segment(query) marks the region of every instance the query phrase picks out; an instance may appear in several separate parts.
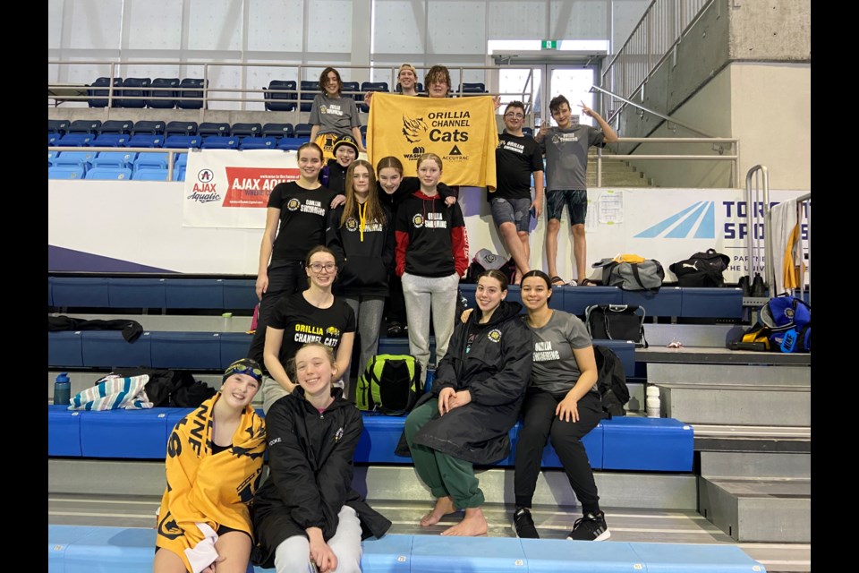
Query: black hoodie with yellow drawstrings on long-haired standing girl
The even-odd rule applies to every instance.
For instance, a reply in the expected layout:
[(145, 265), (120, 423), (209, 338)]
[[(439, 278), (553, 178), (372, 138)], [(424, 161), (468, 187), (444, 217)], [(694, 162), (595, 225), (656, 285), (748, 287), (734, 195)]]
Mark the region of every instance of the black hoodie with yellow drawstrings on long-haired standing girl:
[(387, 296), (387, 278), (394, 269), (394, 216), (384, 204), (385, 224), (367, 221), (361, 236), (361, 222), (349, 218), (343, 226), (344, 206), (331, 212), (326, 244), (337, 260), (337, 295)]

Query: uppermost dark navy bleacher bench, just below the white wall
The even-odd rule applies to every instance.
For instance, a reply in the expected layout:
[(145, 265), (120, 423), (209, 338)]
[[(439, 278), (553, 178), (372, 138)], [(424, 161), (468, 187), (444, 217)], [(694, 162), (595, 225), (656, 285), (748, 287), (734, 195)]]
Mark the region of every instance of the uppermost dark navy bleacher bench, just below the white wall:
[[(251, 310), (257, 304), (251, 278), (109, 278), (48, 277), (48, 306), (57, 308), (163, 308)], [(663, 286), (658, 293), (627, 291), (617, 286), (557, 286), (552, 306), (583, 316), (591, 304), (636, 304), (650, 317), (738, 319), (743, 317), (740, 288)], [(470, 308), (472, 284), (461, 284)], [(518, 286), (507, 300), (522, 302)]]

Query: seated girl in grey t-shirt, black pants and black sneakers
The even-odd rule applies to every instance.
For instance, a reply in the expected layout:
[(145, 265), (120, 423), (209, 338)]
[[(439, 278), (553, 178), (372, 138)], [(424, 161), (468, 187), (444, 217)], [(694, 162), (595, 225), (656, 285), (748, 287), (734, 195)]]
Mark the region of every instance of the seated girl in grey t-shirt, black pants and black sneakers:
[(526, 324), (533, 336), (532, 382), (522, 407), (516, 442), (513, 527), (519, 537), (537, 538), (531, 504), (546, 440), (564, 466), (584, 516), (567, 539), (603, 541), (611, 536), (582, 438), (605, 417), (597, 388), (591, 337), (574, 314), (549, 308), (552, 281), (542, 270), (522, 278)]

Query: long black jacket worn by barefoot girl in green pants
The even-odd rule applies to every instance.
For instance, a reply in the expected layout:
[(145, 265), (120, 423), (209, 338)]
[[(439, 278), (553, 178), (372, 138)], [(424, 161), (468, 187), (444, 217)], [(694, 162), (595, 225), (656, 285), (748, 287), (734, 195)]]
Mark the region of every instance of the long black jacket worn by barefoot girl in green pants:
[[(436, 412), (414, 437), (415, 443), (472, 464), (491, 464), (509, 455), (507, 432), (519, 418), (531, 381), (533, 342), (521, 309), (519, 303), (502, 302), (489, 323), (478, 324), (480, 312), (475, 311), (467, 322), (456, 325), (432, 390), (415, 407), (438, 398), (447, 387), (468, 389), (472, 401), (443, 416)], [(410, 455), (404, 437), (396, 453)]]

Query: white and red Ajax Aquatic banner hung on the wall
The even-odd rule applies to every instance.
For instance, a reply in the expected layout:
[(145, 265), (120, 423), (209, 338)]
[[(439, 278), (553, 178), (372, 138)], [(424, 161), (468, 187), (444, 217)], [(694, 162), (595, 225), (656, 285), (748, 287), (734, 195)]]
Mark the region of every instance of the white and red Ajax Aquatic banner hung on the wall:
[(272, 190), (299, 178), (296, 157), (281, 150), (189, 153), (183, 227), (265, 228)]

